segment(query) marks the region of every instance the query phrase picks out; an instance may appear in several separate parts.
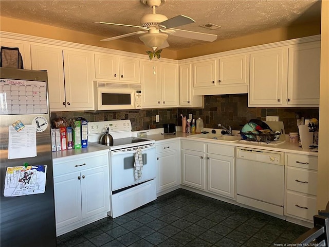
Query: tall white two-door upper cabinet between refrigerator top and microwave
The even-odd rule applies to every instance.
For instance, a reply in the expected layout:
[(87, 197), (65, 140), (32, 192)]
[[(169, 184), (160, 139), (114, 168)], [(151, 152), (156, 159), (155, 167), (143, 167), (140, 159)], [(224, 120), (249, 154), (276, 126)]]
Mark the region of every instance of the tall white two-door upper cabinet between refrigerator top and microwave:
[(31, 65), (48, 72), (50, 111), (94, 110), (92, 54), (32, 44)]

